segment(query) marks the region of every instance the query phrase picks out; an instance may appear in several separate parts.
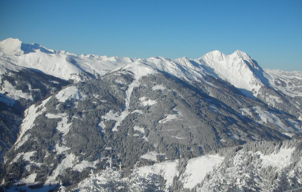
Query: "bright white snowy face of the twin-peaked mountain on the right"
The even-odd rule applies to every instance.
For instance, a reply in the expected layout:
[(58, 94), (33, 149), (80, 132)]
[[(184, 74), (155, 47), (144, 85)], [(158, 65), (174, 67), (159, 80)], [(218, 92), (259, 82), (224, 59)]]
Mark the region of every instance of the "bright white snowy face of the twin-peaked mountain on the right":
[(212, 51), (194, 61), (207, 66), (213, 70), (209, 71), (210, 73), (240, 88), (244, 94), (251, 97), (257, 96), (265, 81), (262, 68), (243, 51), (237, 50), (230, 55)]

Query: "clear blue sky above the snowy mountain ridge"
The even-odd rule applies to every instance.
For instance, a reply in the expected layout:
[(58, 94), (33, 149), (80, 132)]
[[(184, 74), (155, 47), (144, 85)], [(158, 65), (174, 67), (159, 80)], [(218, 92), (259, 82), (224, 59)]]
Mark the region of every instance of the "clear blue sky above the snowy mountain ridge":
[(0, 1), (0, 39), (76, 54), (199, 58), (239, 49), (302, 71), (302, 1)]

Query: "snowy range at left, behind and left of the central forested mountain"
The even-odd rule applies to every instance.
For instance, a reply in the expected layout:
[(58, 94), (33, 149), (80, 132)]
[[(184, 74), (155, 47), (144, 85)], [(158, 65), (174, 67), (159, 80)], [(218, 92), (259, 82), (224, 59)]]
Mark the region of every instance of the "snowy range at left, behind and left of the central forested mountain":
[(61, 79), (82, 81), (108, 71), (135, 58), (80, 55), (44, 48), (38, 44), (24, 44), (18, 39), (0, 42), (0, 59), (31, 68)]

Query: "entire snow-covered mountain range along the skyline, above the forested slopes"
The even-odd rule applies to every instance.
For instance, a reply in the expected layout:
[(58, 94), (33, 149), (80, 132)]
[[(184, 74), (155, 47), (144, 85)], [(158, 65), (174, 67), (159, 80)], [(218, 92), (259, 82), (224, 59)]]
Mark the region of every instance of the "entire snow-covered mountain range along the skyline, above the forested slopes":
[[(2, 74), (5, 69), (16, 71), (26, 67), (74, 82), (98, 78), (120, 69), (137, 74), (137, 79), (147, 74), (164, 72), (185, 81), (210, 84), (207, 76), (212, 76), (230, 83), (251, 98), (258, 98), (287, 113), (297, 115), (302, 110), (301, 72), (264, 71), (248, 54), (239, 50), (230, 55), (212, 51), (195, 60), (186, 57), (137, 59), (76, 55), (9, 38), (0, 42), (0, 60), (3, 63)], [(297, 99), (289, 101), (292, 97)], [(284, 107), (282, 103), (287, 103), (287, 106)]]

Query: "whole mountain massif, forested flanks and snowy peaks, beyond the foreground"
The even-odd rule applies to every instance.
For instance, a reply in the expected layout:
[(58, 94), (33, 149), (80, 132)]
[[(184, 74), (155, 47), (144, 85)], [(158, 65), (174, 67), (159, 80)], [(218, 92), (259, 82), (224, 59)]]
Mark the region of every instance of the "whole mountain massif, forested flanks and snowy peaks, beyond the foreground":
[[(262, 70), (239, 50), (195, 60), (137, 59), (6, 39), (0, 42), (2, 186), (73, 186), (109, 159), (127, 177), (137, 161), (159, 165), (219, 152), (218, 163), (232, 147), (295, 141), (302, 134), (301, 74)], [(179, 180), (188, 182), (182, 173)], [(173, 180), (166, 183), (171, 190), (180, 185)]]

